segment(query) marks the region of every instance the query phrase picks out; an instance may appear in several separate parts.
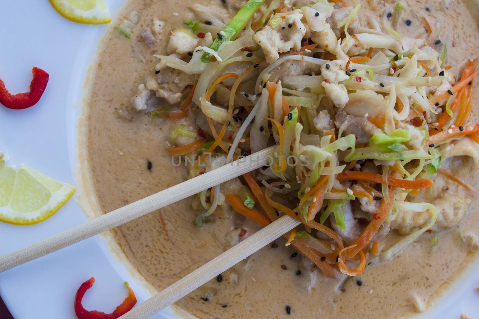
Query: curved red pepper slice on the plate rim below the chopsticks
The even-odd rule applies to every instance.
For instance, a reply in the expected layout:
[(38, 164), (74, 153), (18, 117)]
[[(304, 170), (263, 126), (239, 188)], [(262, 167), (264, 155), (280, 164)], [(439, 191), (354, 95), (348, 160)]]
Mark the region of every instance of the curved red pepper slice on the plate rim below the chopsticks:
[(77, 315), (78, 319), (117, 319), (118, 317), (121, 317), (130, 311), (131, 308), (133, 308), (133, 306), (135, 306), (137, 303), (137, 297), (135, 297), (135, 293), (131, 289), (130, 285), (125, 282), (125, 286), (128, 288), (128, 297), (126, 297), (121, 305), (116, 307), (112, 313), (104, 313), (97, 310), (87, 310), (81, 305), (81, 299), (83, 299), (85, 292), (90, 289), (91, 286), (93, 286), (94, 282), (95, 277), (91, 277), (81, 284), (80, 288), (78, 288), (77, 295), (75, 296), (75, 314)]

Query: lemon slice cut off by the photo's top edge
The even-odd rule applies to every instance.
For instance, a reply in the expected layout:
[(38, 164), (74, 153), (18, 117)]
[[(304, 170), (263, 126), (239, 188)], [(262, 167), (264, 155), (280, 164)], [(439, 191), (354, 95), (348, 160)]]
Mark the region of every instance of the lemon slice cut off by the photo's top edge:
[(112, 21), (103, 0), (50, 0), (53, 8), (73, 22), (102, 24)]

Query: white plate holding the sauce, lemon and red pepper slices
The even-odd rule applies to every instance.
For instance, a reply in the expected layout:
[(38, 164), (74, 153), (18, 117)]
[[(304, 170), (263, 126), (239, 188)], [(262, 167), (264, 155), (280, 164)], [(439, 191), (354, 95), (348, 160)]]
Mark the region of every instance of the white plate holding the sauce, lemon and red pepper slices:
[[(112, 16), (124, 0), (107, 0)], [(0, 106), (0, 150), (10, 165), (24, 163), (55, 179), (75, 185), (75, 139), (82, 86), (97, 43), (108, 26), (84, 25), (61, 17), (48, 1), (2, 1), (0, 77), (11, 92), (28, 90), (31, 68), (50, 74), (40, 102), (27, 110)], [(113, 19), (113, 23), (115, 23)], [(36, 225), (0, 222), (0, 254), (36, 242), (87, 220), (75, 199)], [(477, 264), (477, 263), (476, 263)], [(125, 298), (123, 281), (138, 303), (149, 293), (109, 253), (101, 236), (0, 274), (0, 295), (15, 319), (76, 318), (73, 308), (80, 284), (91, 276), (94, 286), (85, 308), (111, 312)], [(435, 302), (424, 318), (459, 318), (479, 314), (479, 271), (471, 269)], [(387, 298), (387, 296), (385, 296)], [(378, 303), (380, 300), (378, 300)], [(379, 306), (379, 304), (378, 304)], [(155, 318), (174, 318), (163, 311)]]

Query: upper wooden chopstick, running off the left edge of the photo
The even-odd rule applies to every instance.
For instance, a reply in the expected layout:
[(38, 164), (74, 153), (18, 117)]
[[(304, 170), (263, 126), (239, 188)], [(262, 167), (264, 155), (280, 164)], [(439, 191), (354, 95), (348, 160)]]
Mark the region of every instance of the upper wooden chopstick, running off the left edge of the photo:
[(1, 256), (0, 272), (42, 257), (48, 253), (56, 252), (61, 248), (146, 215), (153, 210), (160, 209), (183, 198), (197, 194), (202, 190), (226, 182), (244, 173), (251, 172), (268, 162), (270, 154), (275, 147), (276, 146), (271, 146), (244, 158), (240, 158), (235, 162), (196, 176), (66, 231), (35, 242), (15, 252)]

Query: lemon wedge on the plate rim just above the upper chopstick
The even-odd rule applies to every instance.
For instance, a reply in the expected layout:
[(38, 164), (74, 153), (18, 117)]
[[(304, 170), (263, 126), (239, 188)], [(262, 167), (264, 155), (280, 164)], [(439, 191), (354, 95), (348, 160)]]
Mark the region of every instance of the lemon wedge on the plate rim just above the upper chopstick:
[(75, 188), (22, 166), (18, 171), (0, 160), (0, 220), (30, 225), (44, 221), (67, 202)]

